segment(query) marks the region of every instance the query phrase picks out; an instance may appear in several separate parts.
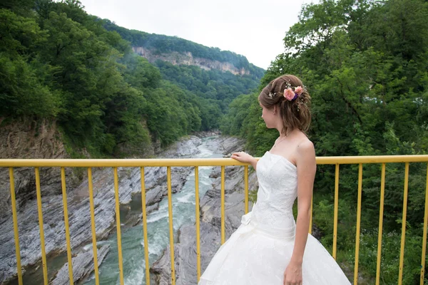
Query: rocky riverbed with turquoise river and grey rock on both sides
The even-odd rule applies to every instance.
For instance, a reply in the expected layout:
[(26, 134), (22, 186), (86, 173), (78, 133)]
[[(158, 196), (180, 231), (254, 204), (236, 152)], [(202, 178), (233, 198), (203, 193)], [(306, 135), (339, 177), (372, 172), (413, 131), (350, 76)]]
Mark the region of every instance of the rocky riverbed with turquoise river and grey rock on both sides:
[[(242, 150), (243, 142), (236, 138), (191, 136), (171, 146), (159, 157), (223, 157), (233, 151)], [(219, 168), (219, 167), (218, 167)], [(208, 265), (210, 258), (220, 246), (220, 183), (219, 169), (201, 167), (200, 169), (200, 241), (202, 267)], [(148, 210), (149, 252), (152, 279), (155, 284), (165, 284), (170, 280), (170, 257), (168, 244), (168, 208), (165, 208), (165, 167), (146, 168), (146, 204)], [(141, 230), (141, 195), (139, 169), (119, 170), (119, 188), (121, 200), (121, 224), (124, 272), (126, 284), (143, 284), (144, 270), (143, 242)], [(255, 187), (254, 173), (250, 175), (250, 187)], [(243, 214), (243, 167), (226, 168), (226, 234), (229, 236), (238, 227)], [(177, 231), (178, 243), (175, 244), (175, 269), (177, 284), (195, 284), (195, 217), (194, 217), (194, 180), (190, 167), (172, 167), (173, 217), (174, 229)], [(194, 182), (193, 182), (194, 183)], [(190, 185), (186, 185), (190, 184)], [(68, 190), (68, 209), (73, 248), (73, 272), (75, 281), (89, 276), (93, 270), (90, 216), (87, 195), (88, 181), (83, 180), (74, 190)], [(111, 169), (94, 172), (95, 220), (98, 247), (98, 262), (101, 264), (101, 284), (111, 284), (118, 276), (116, 231), (114, 230), (113, 175)], [(250, 188), (251, 189), (251, 188)], [(63, 209), (61, 195), (43, 197), (44, 230), (46, 252), (49, 257), (48, 269), (50, 284), (67, 284), (66, 249)], [(190, 207), (189, 207), (190, 206)], [(21, 261), (27, 266), (24, 274), (26, 284), (40, 284), (43, 280), (41, 269), (37, 268), (41, 258), (39, 246), (39, 229), (37, 227), (36, 201), (26, 204), (19, 212), (19, 234), (21, 244)], [(25, 222), (24, 222), (25, 221)], [(163, 221), (163, 224), (156, 224)], [(16, 274), (14, 264), (14, 237), (11, 217), (0, 222), (0, 252), (4, 259), (0, 262), (1, 281)], [(154, 235), (153, 235), (154, 234)], [(156, 234), (158, 234), (156, 236)], [(153, 244), (154, 242), (154, 244)], [(131, 244), (130, 244), (131, 243)], [(129, 247), (128, 247), (129, 246)], [(130, 254), (129, 256), (127, 254)], [(35, 264), (36, 266), (28, 266)], [(61, 269), (61, 266), (63, 267)], [(58, 271), (59, 270), (59, 271)], [(56, 273), (58, 271), (58, 274)], [(30, 281), (31, 280), (31, 281)], [(85, 284), (92, 284), (89, 278)], [(6, 284), (14, 284), (11, 281)]]

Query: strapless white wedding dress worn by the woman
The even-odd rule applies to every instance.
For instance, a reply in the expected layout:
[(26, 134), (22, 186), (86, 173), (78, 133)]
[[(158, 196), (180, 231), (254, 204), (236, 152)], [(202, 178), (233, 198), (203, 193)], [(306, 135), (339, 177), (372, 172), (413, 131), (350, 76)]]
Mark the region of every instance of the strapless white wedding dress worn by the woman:
[[(223, 244), (198, 285), (282, 285), (295, 241), (292, 204), (297, 197), (297, 167), (266, 152), (257, 164), (257, 202)], [(302, 262), (303, 285), (350, 284), (320, 242), (307, 237)]]

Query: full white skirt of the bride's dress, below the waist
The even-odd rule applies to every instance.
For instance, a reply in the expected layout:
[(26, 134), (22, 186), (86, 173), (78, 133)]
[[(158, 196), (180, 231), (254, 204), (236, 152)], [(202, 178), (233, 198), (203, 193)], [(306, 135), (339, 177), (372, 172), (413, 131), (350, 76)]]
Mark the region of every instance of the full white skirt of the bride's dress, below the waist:
[[(279, 238), (261, 231), (249, 222), (250, 215), (243, 216), (240, 227), (218, 249), (198, 285), (283, 284), (295, 234)], [(303, 256), (302, 281), (303, 285), (350, 284), (335, 259), (311, 234)]]

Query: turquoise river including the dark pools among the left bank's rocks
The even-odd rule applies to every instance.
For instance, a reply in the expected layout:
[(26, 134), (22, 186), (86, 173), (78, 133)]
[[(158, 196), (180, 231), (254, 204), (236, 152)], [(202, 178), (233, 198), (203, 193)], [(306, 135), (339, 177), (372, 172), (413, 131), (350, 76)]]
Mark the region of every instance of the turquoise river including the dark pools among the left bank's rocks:
[[(218, 136), (203, 138), (198, 145), (198, 154), (193, 158), (223, 157), (220, 153)], [(199, 195), (200, 198), (212, 188), (213, 178), (210, 173), (213, 167), (199, 167)], [(186, 178), (185, 184), (180, 192), (173, 194), (173, 229), (174, 237), (177, 239), (177, 231), (183, 224), (195, 222), (195, 173), (192, 171)], [(127, 285), (146, 284), (146, 261), (144, 260), (144, 241), (142, 223), (136, 224), (137, 217), (141, 216), (141, 193), (133, 195), (129, 204), (121, 205), (121, 240), (123, 254), (123, 276)], [(136, 224), (136, 225), (134, 225)], [(88, 225), (90, 227), (90, 225)], [(157, 210), (147, 216), (148, 229), (148, 252), (149, 264), (158, 260), (166, 247), (169, 247), (169, 224), (168, 224), (168, 197), (163, 197)], [(118, 250), (116, 229), (113, 229), (108, 239), (97, 242), (98, 248), (104, 244), (110, 246), (110, 250), (99, 267), (100, 284), (120, 284), (118, 274)], [(83, 251), (92, 251), (92, 244), (83, 246)], [(67, 261), (66, 253), (56, 255), (48, 259), (49, 279), (54, 272)], [(37, 268), (39, 267), (39, 268)], [(37, 268), (37, 269), (36, 269)], [(24, 274), (24, 284), (43, 284), (41, 266), (29, 266)], [(95, 284), (95, 276), (92, 273), (86, 281), (77, 284)], [(7, 284), (18, 284), (17, 280)]]

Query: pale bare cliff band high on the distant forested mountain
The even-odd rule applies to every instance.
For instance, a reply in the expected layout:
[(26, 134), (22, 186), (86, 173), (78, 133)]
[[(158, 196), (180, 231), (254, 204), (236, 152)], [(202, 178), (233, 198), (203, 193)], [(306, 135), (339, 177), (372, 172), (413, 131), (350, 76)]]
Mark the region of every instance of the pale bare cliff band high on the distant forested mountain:
[(198, 66), (205, 71), (210, 71), (211, 69), (218, 69), (220, 71), (230, 71), (235, 75), (248, 75), (250, 71), (246, 71), (245, 68), (235, 68), (232, 63), (220, 62), (220, 61), (211, 61), (207, 58), (195, 58), (192, 53), (189, 51), (186, 53), (178, 53), (173, 51), (172, 53), (156, 53), (156, 51), (151, 51), (148, 48), (143, 48), (142, 46), (133, 46), (133, 51), (151, 63), (154, 63), (156, 60), (160, 59), (161, 61), (168, 61), (173, 63), (173, 65), (186, 65), (186, 66)]

